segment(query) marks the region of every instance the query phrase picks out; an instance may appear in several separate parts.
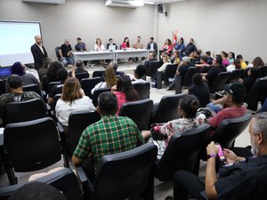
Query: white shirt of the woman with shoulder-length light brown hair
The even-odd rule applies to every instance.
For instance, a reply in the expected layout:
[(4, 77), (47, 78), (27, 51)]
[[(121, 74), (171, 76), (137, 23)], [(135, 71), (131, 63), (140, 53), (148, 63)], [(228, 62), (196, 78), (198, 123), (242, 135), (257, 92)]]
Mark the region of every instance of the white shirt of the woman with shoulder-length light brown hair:
[(75, 100), (70, 105), (69, 102), (60, 99), (57, 101), (55, 107), (56, 116), (62, 125), (69, 125), (69, 114), (79, 110), (95, 110), (92, 100), (87, 96), (83, 96), (81, 99)]

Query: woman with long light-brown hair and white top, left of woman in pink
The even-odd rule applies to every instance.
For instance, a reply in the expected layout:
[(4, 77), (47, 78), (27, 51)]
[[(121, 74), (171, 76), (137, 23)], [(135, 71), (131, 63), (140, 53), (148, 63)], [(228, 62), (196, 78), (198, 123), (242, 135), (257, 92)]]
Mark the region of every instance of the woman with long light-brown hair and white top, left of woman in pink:
[(114, 69), (109, 66), (106, 70), (105, 70), (105, 81), (101, 81), (100, 83), (96, 84), (93, 89), (91, 90), (91, 93), (93, 94), (93, 92), (95, 91), (95, 89), (98, 88), (111, 88), (114, 85), (117, 84), (117, 76), (115, 74)]

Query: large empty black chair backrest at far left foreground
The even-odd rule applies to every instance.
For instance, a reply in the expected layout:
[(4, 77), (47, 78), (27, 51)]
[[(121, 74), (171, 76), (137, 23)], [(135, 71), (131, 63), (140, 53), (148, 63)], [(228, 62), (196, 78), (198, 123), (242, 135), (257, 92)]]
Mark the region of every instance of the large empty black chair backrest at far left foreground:
[(32, 172), (61, 160), (56, 124), (51, 117), (4, 127), (4, 148), (15, 172)]

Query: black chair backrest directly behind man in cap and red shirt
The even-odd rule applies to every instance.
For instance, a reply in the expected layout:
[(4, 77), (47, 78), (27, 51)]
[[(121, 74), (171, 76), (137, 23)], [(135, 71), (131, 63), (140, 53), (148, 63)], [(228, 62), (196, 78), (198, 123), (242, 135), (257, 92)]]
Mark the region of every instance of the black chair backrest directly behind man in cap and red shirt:
[(215, 129), (211, 140), (220, 142), (223, 148), (232, 148), (234, 140), (247, 128), (251, 117), (251, 114), (246, 113), (244, 116), (224, 119)]

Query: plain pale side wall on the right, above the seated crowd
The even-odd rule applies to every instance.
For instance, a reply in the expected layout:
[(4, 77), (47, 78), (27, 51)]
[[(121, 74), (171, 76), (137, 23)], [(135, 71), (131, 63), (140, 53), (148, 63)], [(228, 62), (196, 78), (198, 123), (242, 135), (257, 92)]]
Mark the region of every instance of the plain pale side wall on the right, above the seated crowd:
[(267, 62), (267, 1), (188, 0), (166, 4), (168, 16), (158, 16), (162, 45), (178, 29), (186, 44), (190, 37), (203, 51), (241, 53), (245, 60), (261, 56)]

